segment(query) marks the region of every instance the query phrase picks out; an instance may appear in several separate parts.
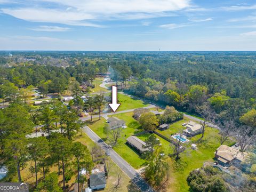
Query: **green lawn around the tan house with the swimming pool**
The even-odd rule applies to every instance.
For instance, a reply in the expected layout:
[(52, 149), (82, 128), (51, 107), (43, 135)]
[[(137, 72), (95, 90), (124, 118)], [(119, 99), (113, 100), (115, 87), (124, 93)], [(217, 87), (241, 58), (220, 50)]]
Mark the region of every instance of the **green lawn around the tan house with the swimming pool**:
[[(187, 121), (188, 119), (186, 119)], [(165, 131), (158, 131), (159, 133), (165, 135), (166, 137), (170, 138), (170, 135), (173, 133), (179, 132), (180, 128), (182, 127), (181, 124), (186, 122), (184, 119), (175, 122), (170, 125), (170, 128)], [(190, 171), (193, 171), (201, 166), (206, 161), (213, 161), (214, 158), (214, 151), (220, 146), (217, 137), (219, 137), (218, 130), (212, 127), (205, 128), (204, 138), (201, 142), (198, 141), (201, 138), (201, 134), (196, 135), (195, 137), (189, 139), (190, 141), (185, 144), (186, 150), (183, 154), (181, 154), (181, 158), (176, 162), (174, 159), (169, 158), (169, 167), (171, 169), (172, 180), (169, 183), (168, 191), (188, 191), (189, 187), (187, 185), (186, 178)], [(145, 140), (149, 135), (141, 135), (139, 136), (140, 139)], [(159, 137), (158, 137), (159, 138)], [(159, 138), (161, 143), (163, 144), (164, 153), (172, 153), (172, 148), (170, 147), (169, 142), (164, 142)], [(197, 150), (191, 149), (191, 143), (196, 143)], [(234, 141), (227, 140), (226, 145), (232, 146), (234, 145)]]

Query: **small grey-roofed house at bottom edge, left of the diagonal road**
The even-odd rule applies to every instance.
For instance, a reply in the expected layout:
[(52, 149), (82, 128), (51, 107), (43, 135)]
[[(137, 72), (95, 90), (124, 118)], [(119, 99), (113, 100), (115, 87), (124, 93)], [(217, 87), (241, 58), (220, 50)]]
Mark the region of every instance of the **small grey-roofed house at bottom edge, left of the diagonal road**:
[(92, 173), (90, 175), (90, 188), (92, 190), (104, 189), (106, 187), (106, 183), (105, 172)]

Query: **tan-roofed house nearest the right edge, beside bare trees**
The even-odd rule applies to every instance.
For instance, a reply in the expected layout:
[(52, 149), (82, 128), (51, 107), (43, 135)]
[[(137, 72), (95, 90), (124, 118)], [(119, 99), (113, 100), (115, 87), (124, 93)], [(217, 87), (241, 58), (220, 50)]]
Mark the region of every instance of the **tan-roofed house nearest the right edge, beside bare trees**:
[(223, 166), (239, 164), (244, 161), (246, 156), (246, 153), (226, 145), (221, 145), (214, 154), (217, 161)]

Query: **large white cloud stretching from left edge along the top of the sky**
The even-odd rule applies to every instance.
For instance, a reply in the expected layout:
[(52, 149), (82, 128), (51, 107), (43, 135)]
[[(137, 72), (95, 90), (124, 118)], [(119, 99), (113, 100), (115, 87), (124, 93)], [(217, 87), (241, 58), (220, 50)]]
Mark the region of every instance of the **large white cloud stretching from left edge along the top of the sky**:
[[(34, 6), (25, 7), (24, 3), (21, 7), (15, 6), (1, 11), (31, 22), (103, 27), (93, 22), (170, 17), (174, 15), (171, 11), (187, 9), (190, 6), (190, 0), (38, 0), (33, 3)], [(31, 2), (27, 4), (31, 5)], [(58, 9), (49, 9), (51, 4)]]

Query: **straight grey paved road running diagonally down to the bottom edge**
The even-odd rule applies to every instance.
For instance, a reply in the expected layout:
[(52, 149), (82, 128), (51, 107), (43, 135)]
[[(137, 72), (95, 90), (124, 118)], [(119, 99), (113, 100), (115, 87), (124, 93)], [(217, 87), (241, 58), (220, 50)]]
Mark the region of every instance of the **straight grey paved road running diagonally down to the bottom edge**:
[(121, 156), (119, 156), (114, 149), (110, 148), (107, 143), (105, 143), (100, 137), (94, 133), (89, 127), (84, 126), (83, 131), (94, 141), (96, 142), (106, 153), (109, 154), (111, 159), (123, 170), (132, 182), (137, 185), (142, 192), (154, 191), (148, 185), (148, 183), (142, 179), (137, 171), (127, 163)]

